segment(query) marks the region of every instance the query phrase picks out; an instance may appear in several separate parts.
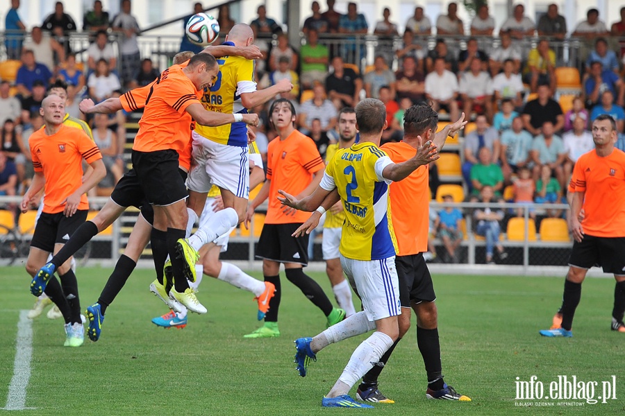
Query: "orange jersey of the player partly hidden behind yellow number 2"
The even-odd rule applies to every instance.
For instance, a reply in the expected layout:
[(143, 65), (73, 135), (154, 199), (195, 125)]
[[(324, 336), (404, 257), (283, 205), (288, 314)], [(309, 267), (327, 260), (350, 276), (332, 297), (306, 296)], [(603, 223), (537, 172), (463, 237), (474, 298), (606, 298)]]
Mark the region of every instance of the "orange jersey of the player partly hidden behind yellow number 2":
[[(381, 148), (395, 163), (406, 162), (417, 153), (417, 149), (404, 141), (387, 143)], [(406, 179), (389, 185), (398, 256), (428, 251), (429, 177), (428, 166), (419, 166)]]

